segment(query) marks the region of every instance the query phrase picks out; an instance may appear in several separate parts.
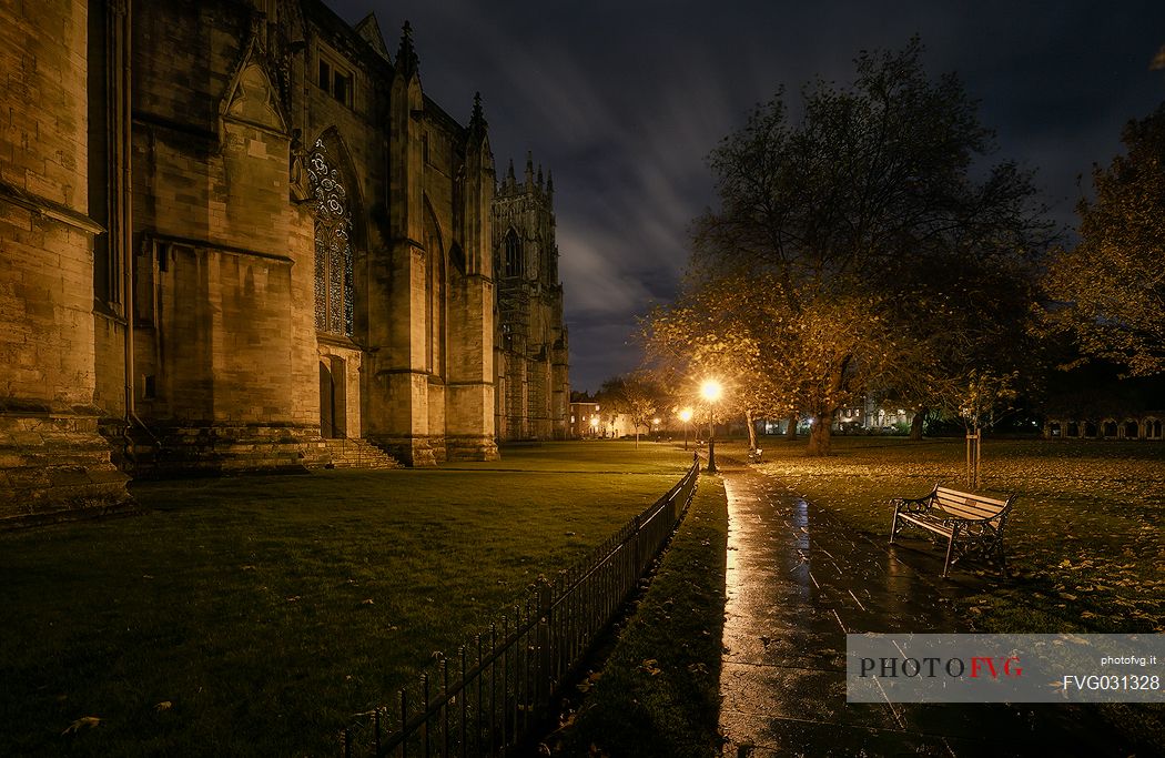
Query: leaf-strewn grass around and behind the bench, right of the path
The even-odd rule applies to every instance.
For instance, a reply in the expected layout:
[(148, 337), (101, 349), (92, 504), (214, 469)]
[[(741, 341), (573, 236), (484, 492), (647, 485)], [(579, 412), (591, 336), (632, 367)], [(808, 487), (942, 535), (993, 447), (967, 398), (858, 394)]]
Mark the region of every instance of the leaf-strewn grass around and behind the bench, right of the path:
[[(962, 486), (960, 441), (835, 442), (835, 457), (788, 450), (761, 468), (871, 535), (888, 534), (891, 497), (919, 497), (935, 483)], [(1025, 588), (1048, 592), (1051, 608), (1087, 630), (1165, 631), (1165, 452), (1158, 448), (983, 443), (980, 489), (1017, 496), (1005, 538), (1009, 563)], [(1002, 590), (1017, 603), (1025, 594)], [(976, 610), (990, 605), (984, 599)]]

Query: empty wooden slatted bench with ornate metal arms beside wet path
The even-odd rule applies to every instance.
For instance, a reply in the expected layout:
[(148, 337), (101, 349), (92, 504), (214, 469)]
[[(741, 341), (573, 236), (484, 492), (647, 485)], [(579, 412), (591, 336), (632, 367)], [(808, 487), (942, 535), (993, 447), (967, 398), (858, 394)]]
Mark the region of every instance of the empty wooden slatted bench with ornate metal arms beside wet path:
[(894, 524), (890, 526), (890, 543), (908, 526), (917, 526), (946, 538), (947, 554), (942, 563), (942, 576), (961, 557), (980, 554), (997, 557), (1004, 576), (1008, 573), (1003, 555), (1003, 527), (1015, 496), (1005, 500), (989, 498), (972, 492), (960, 492), (938, 484), (923, 498), (895, 498)]

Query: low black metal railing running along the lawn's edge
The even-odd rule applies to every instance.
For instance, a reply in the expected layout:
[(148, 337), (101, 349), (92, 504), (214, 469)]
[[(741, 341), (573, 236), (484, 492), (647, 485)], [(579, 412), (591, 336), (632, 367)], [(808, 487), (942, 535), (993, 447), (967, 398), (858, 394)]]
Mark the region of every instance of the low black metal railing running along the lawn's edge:
[(341, 734), (344, 756), (506, 755), (535, 727), (663, 550), (696, 494), (699, 458), (672, 489), (572, 569)]

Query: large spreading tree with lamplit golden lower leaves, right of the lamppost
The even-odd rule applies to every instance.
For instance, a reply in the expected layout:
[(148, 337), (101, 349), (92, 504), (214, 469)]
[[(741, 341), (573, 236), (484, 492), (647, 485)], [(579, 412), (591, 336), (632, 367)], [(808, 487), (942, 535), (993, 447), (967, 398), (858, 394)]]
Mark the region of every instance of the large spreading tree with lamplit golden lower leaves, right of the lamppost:
[[(691, 290), (768, 288), (733, 339), (811, 415), (810, 455), (829, 452), (834, 413), (874, 377), (924, 398), (975, 365), (1000, 315), (979, 274), (1026, 264), (1046, 231), (1031, 177), (980, 166), (990, 131), (922, 51), (861, 54), (852, 85), (806, 86), (796, 115), (778, 93), (711, 156), (720, 203), (696, 222)], [(789, 334), (761, 346), (772, 313)]]

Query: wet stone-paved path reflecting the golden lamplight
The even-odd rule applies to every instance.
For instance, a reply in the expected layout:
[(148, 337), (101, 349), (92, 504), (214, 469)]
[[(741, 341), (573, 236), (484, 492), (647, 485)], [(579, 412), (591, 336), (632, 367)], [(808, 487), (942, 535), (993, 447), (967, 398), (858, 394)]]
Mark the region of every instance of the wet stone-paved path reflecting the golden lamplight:
[(725, 756), (1130, 755), (1079, 707), (846, 703), (847, 632), (968, 631), (961, 601), (991, 580), (942, 580), (927, 543), (876, 542), (725, 463)]

